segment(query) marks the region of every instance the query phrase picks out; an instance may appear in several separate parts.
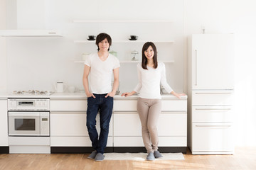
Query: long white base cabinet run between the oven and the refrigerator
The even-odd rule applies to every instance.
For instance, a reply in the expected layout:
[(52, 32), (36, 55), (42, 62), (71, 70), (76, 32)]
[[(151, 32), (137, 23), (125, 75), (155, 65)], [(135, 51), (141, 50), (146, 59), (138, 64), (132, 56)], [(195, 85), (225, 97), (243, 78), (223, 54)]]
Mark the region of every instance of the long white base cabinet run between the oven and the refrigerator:
[[(186, 101), (186, 97), (162, 98), (163, 111), (158, 124), (159, 147), (174, 147), (178, 148), (176, 152), (186, 152)], [(86, 110), (86, 98), (50, 98), (51, 147), (91, 147), (86, 127)], [(100, 130), (99, 115), (96, 120), (97, 130)], [(122, 147), (129, 149), (127, 152), (140, 147), (144, 151), (141, 129), (137, 113), (137, 96), (115, 97), (107, 147)], [(117, 151), (118, 149), (114, 150)], [(164, 151), (171, 152), (168, 149)]]

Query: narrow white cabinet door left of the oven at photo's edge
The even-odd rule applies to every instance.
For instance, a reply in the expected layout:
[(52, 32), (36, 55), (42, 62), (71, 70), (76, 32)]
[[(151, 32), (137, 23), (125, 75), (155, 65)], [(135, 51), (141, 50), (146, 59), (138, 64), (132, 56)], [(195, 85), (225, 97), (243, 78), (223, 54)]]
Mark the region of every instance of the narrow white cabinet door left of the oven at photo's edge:
[(0, 146), (8, 146), (7, 100), (0, 99)]

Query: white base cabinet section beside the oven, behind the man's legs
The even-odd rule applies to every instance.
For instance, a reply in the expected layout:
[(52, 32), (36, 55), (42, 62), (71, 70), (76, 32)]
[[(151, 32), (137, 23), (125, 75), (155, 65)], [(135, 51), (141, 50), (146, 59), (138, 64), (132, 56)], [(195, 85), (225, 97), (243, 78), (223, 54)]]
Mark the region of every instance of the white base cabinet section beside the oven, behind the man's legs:
[[(86, 127), (87, 99), (55, 98), (50, 100), (50, 146), (91, 147)], [(96, 117), (100, 133), (100, 116)], [(107, 147), (112, 147), (112, 120)]]

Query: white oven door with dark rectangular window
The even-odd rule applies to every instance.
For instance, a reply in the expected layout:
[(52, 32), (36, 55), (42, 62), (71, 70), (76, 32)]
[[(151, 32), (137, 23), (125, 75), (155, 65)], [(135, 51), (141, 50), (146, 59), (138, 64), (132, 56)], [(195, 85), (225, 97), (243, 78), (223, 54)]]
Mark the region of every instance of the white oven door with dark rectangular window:
[(9, 136), (39, 136), (39, 112), (9, 112)]

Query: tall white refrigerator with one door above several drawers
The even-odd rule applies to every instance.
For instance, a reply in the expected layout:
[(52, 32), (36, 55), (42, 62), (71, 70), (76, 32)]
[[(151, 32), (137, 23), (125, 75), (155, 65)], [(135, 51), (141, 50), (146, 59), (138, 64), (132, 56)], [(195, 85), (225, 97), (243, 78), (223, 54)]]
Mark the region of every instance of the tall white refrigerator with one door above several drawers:
[(188, 38), (188, 147), (233, 154), (233, 34)]

